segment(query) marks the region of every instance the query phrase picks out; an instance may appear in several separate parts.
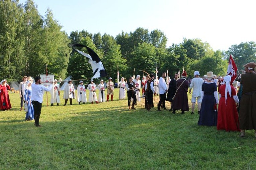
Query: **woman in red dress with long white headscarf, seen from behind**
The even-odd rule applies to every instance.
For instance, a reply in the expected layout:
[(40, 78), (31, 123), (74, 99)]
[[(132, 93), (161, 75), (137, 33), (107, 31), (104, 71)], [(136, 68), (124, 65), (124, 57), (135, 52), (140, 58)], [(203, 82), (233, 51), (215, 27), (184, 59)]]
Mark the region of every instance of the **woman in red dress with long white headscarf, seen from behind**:
[(226, 131), (240, 131), (238, 125), (238, 113), (237, 106), (239, 106), (239, 100), (236, 95), (236, 90), (233, 86), (230, 86), (231, 76), (224, 77), (224, 82), (220, 87), (220, 102), (218, 108), (218, 130)]

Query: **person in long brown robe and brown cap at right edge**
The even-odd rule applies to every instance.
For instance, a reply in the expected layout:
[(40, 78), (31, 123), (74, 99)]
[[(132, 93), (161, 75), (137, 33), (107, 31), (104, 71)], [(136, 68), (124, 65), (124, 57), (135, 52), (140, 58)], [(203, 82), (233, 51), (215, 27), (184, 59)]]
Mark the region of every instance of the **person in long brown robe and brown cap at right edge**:
[(239, 109), (240, 137), (245, 136), (245, 130), (254, 129), (256, 138), (256, 73), (254, 72), (256, 63), (249, 62), (244, 67), (246, 73), (241, 75), (240, 82), (243, 85)]

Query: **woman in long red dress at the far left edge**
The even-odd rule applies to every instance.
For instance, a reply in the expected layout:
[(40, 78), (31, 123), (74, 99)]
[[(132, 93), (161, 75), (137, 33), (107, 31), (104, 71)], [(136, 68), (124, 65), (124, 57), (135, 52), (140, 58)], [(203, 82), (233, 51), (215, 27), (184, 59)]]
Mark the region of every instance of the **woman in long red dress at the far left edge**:
[(11, 109), (10, 98), (7, 90), (10, 90), (10, 86), (7, 84), (6, 79), (0, 82), (0, 109), (8, 110)]

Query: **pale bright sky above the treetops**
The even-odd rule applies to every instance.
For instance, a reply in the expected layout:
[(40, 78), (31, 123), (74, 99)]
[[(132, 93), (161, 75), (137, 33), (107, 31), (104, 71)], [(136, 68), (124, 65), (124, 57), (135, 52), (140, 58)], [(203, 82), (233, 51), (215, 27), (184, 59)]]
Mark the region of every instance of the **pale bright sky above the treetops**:
[[(255, 0), (34, 0), (40, 15), (53, 11), (68, 35), (87, 30), (116, 37), (142, 27), (165, 33), (167, 47), (199, 38), (216, 51), (256, 41)], [(25, 0), (19, 0), (25, 3)]]

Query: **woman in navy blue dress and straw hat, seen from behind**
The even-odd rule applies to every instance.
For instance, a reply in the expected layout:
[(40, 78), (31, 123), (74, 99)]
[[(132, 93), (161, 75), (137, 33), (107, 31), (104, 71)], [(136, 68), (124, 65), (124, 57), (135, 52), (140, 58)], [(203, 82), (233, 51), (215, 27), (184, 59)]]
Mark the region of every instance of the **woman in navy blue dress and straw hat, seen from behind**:
[(202, 104), (198, 125), (217, 126), (217, 105), (219, 104), (217, 85), (211, 79), (216, 76), (211, 71), (204, 77), (206, 82), (202, 85)]

